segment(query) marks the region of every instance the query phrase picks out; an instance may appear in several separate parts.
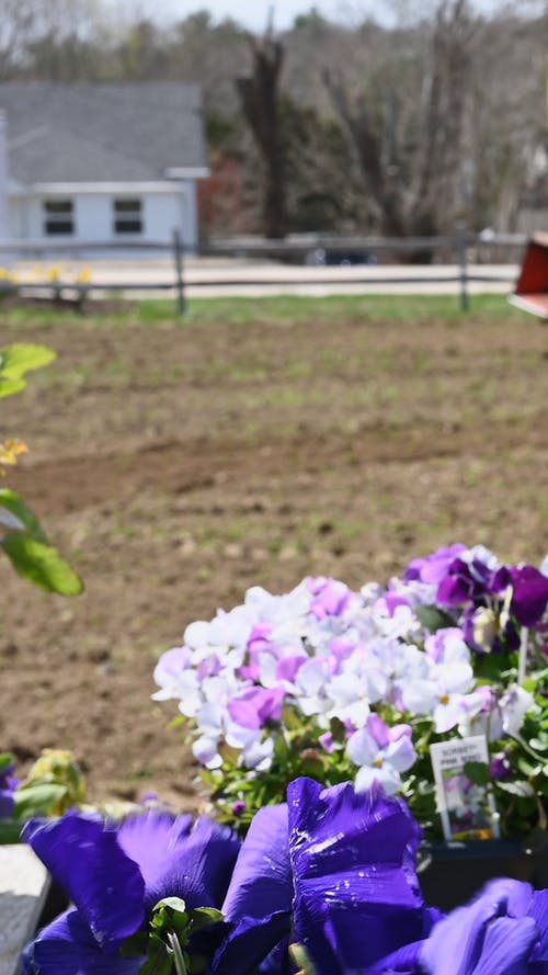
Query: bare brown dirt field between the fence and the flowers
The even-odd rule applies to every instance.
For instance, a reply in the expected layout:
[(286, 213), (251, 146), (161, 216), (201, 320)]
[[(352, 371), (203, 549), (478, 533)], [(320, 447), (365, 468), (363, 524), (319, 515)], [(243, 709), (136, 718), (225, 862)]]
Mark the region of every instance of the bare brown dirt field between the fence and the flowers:
[(548, 329), (492, 302), (460, 321), (424, 301), (398, 318), (374, 299), (248, 303), (244, 324), (219, 304), (184, 327), (0, 310), (1, 345), (58, 353), (3, 401), (2, 434), (31, 449), (8, 483), (87, 587), (52, 597), (7, 565), (1, 747), (23, 769), (73, 749), (92, 798), (153, 789), (191, 807), (174, 704), (150, 701), (189, 622), (250, 585), (357, 587), (457, 540), (538, 562)]

